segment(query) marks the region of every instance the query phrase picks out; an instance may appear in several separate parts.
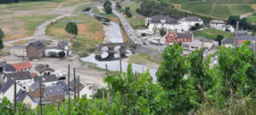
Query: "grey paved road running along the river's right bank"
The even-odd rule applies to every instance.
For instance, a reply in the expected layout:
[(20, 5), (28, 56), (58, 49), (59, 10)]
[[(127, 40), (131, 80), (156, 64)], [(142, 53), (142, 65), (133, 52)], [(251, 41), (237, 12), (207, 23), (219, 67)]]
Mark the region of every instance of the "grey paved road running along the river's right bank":
[(125, 19), (125, 16), (123, 14), (120, 14), (117, 10), (115, 10), (115, 3), (112, 3), (112, 11), (113, 14), (117, 15), (119, 17), (119, 20), (122, 23), (122, 26), (124, 26), (125, 28), (125, 33), (126, 35), (131, 39), (132, 42), (134, 43), (139, 43), (142, 45), (142, 47), (148, 48), (148, 49), (156, 49), (156, 50), (160, 50), (162, 51), (164, 49), (163, 46), (156, 46), (156, 45), (151, 45), (149, 43), (147, 43), (148, 45), (143, 45), (143, 40), (139, 37), (137, 37), (136, 32), (134, 31), (134, 29), (131, 27), (131, 25), (129, 24), (129, 22)]

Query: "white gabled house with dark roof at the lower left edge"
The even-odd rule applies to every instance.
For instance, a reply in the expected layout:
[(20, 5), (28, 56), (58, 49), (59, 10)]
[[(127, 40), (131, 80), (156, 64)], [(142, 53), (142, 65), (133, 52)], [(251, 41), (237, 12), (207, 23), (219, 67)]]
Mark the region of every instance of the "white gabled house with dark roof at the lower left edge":
[[(14, 89), (15, 83), (12, 80), (7, 80), (3, 86), (0, 88), (0, 99), (3, 99), (4, 96), (8, 98), (9, 101), (14, 102)], [(16, 85), (16, 90), (22, 89), (20, 85)]]

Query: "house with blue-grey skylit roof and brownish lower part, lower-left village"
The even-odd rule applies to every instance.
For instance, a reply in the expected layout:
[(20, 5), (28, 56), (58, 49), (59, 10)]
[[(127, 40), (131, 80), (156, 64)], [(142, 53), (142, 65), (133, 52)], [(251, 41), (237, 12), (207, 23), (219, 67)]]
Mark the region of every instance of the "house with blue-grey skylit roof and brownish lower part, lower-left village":
[(51, 85), (44, 87), (44, 98), (47, 101), (64, 101), (65, 92), (59, 85)]

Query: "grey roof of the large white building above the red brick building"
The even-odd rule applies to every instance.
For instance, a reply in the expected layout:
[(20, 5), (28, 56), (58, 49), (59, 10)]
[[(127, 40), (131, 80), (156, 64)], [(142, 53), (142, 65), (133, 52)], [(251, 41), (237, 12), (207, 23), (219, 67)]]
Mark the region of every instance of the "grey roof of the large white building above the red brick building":
[(150, 22), (151, 23), (161, 23), (161, 20), (166, 20), (166, 24), (177, 24), (177, 20), (174, 18), (171, 18), (168, 15), (154, 15), (151, 17)]

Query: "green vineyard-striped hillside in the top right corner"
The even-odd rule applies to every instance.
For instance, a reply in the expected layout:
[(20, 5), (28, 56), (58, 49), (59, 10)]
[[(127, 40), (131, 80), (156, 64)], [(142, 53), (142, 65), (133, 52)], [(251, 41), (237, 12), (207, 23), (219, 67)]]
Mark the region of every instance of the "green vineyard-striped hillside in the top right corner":
[(188, 10), (193, 13), (227, 18), (230, 15), (241, 15), (253, 12), (252, 4), (256, 0), (169, 0), (178, 4), (177, 9)]

